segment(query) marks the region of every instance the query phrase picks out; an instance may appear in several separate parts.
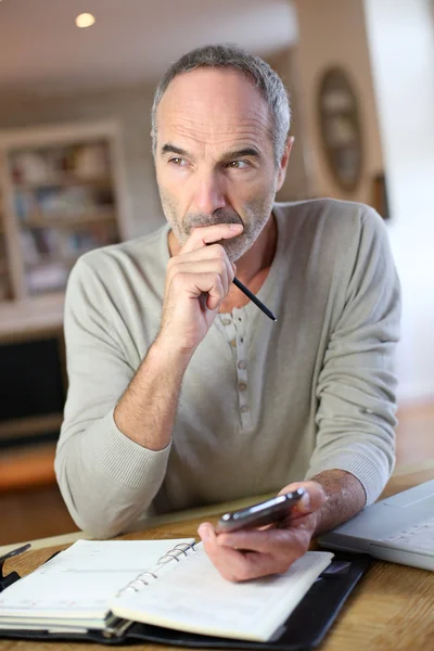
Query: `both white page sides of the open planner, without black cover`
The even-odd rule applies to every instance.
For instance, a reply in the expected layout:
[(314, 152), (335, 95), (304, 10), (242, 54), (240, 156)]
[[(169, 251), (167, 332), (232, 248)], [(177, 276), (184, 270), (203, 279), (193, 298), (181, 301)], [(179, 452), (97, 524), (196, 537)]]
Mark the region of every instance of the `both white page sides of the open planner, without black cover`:
[(139, 622), (267, 641), (332, 558), (308, 551), (284, 574), (231, 583), (194, 539), (79, 540), (0, 593), (0, 630), (122, 635)]

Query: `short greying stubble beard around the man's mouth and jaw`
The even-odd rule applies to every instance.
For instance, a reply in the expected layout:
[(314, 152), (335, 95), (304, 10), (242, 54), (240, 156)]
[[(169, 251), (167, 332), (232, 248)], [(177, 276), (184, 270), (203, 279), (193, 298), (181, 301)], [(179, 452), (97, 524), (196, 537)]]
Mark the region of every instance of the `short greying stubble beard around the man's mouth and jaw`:
[(167, 221), (170, 224), (178, 242), (183, 246), (194, 228), (215, 226), (217, 224), (241, 224), (243, 232), (230, 240), (220, 240), (220, 244), (231, 263), (238, 260), (259, 237), (272, 209), (275, 194), (254, 200), (243, 206), (242, 213), (232, 208), (219, 208), (210, 215), (206, 213), (187, 213), (179, 218), (177, 204), (159, 188), (162, 206)]

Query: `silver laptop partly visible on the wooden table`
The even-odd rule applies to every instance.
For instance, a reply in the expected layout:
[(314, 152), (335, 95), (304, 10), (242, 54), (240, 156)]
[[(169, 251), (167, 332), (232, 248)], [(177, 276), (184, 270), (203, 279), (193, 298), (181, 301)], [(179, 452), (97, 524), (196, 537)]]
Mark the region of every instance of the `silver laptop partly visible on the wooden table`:
[(367, 507), (319, 544), (434, 570), (434, 480)]

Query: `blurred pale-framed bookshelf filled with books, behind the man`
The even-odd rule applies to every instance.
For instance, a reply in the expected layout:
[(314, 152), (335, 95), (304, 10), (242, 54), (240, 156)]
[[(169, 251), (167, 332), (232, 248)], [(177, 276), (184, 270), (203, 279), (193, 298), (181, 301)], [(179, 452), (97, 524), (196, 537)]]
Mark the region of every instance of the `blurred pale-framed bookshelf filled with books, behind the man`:
[(118, 129), (105, 123), (0, 131), (0, 156), (11, 252), (4, 298), (61, 298), (80, 255), (129, 235)]

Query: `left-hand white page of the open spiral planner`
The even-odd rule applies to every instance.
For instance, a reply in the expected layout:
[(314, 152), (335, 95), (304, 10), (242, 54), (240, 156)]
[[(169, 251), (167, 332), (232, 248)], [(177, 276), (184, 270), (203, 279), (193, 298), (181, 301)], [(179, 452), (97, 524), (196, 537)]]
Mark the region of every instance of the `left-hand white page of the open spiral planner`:
[(11, 617), (103, 622), (118, 590), (175, 545), (192, 541), (78, 540), (0, 593), (0, 628)]

